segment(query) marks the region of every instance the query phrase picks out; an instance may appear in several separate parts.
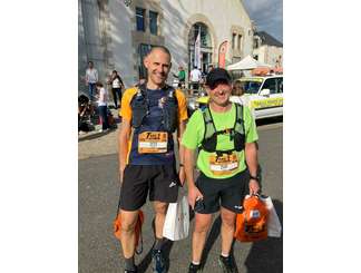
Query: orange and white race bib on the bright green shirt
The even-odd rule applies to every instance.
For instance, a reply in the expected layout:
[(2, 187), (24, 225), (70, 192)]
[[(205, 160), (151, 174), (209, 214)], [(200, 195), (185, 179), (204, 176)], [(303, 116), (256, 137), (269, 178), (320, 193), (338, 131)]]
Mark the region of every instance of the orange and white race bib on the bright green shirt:
[(222, 156), (212, 155), (209, 157), (211, 172), (214, 175), (230, 175), (237, 170), (238, 158), (235, 153), (223, 154)]

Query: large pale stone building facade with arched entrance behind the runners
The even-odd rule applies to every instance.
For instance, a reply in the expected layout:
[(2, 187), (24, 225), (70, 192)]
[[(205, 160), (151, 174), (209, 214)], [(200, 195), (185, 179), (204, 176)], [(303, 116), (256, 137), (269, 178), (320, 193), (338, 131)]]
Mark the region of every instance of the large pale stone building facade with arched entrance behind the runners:
[(79, 91), (92, 60), (105, 81), (116, 69), (126, 87), (145, 77), (143, 58), (153, 46), (172, 53), (172, 72), (195, 64), (201, 38), (201, 69), (227, 66), (253, 51), (253, 27), (242, 0), (78, 0)]

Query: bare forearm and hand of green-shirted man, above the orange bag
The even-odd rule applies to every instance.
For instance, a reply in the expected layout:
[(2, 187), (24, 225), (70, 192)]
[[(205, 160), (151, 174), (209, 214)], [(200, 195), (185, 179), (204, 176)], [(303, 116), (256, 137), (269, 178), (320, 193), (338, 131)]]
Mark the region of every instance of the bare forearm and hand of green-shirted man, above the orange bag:
[[(246, 143), (244, 148), (245, 159), (247, 163), (247, 167), (251, 176), (257, 176), (257, 147), (256, 143)], [(250, 194), (256, 194), (260, 191), (260, 184), (256, 179), (250, 179)]]

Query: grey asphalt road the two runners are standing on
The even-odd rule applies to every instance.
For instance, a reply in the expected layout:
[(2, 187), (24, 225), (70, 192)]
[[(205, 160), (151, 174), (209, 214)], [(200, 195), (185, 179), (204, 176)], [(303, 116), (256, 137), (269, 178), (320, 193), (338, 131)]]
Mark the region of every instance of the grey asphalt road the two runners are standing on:
[[(258, 126), (260, 163), (263, 168), (263, 192), (273, 197), (282, 222), (282, 123)], [(106, 136), (114, 143), (116, 131)], [(89, 140), (90, 142), (90, 140)], [(97, 145), (101, 145), (101, 140)], [(113, 220), (118, 202), (117, 155), (110, 144), (103, 156), (79, 143), (79, 272), (116, 273), (123, 271), (119, 242), (113, 236)], [(88, 144), (88, 146), (90, 143)], [(111, 146), (111, 147), (110, 147)], [(89, 152), (88, 154), (86, 152)], [(113, 152), (113, 154), (110, 153)], [(80, 156), (82, 154), (82, 156)], [(144, 206), (144, 252), (136, 256), (140, 272), (152, 272), (150, 248), (153, 245), (152, 207)], [(214, 217), (205, 248), (204, 272), (221, 272), (217, 264), (219, 254), (219, 218)], [(191, 222), (191, 231), (193, 221)], [(240, 272), (281, 273), (283, 271), (282, 238), (269, 238), (257, 243), (234, 244), (234, 256)], [(169, 255), (169, 272), (187, 272), (191, 256), (191, 238), (166, 245)]]

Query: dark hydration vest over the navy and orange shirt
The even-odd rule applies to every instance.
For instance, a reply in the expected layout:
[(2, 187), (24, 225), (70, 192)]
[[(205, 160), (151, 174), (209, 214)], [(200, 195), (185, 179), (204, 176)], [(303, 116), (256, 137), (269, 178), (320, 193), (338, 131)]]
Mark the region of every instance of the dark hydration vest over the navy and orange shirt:
[[(140, 128), (143, 119), (149, 114), (149, 105), (147, 100), (146, 84), (138, 87), (138, 91), (131, 98), (130, 106), (133, 111), (131, 126), (136, 129)], [(165, 131), (174, 133), (177, 128), (178, 100), (175, 96), (175, 89), (168, 85), (165, 101), (163, 101), (163, 125)]]

